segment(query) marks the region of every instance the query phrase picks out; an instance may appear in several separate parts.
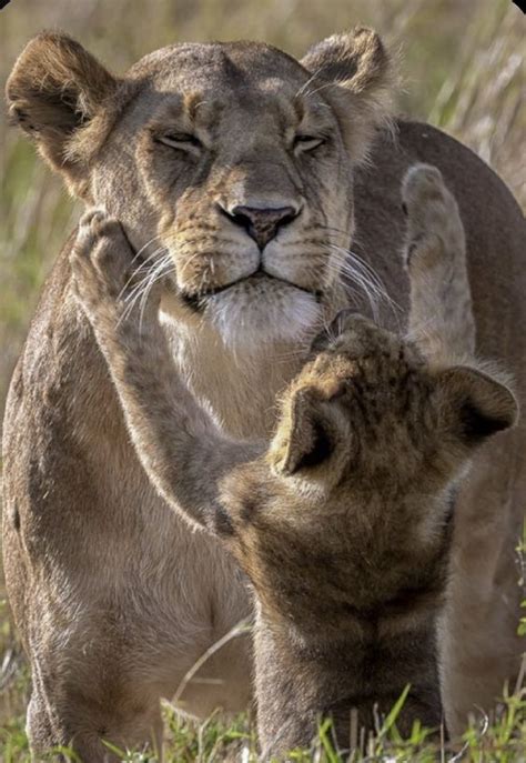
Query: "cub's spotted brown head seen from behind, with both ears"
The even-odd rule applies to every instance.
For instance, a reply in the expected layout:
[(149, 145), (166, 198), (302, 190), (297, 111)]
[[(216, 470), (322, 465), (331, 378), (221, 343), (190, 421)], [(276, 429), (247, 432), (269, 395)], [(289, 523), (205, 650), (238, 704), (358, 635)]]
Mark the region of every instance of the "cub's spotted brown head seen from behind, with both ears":
[[(385, 502), (441, 494), (474, 449), (512, 426), (510, 390), (343, 311), (290, 385), (267, 462), (300, 493)], [(351, 500), (351, 502), (350, 502)]]

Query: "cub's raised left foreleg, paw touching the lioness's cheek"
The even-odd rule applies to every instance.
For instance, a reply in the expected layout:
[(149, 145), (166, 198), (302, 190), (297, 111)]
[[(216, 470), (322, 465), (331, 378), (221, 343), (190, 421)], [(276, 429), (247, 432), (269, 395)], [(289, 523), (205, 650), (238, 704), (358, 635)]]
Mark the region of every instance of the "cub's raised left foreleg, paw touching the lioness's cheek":
[(81, 221), (71, 267), (77, 294), (108, 361), (144, 470), (191, 522), (216, 529), (222, 476), (257, 452), (224, 435), (179, 378), (159, 323), (161, 287), (130, 311), (133, 252), (104, 212)]

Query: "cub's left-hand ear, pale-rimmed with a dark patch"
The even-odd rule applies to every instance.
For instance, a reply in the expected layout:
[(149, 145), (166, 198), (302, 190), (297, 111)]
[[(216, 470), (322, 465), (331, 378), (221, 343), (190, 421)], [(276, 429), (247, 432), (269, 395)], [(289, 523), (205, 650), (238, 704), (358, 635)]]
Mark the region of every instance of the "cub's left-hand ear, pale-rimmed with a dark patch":
[(269, 451), (276, 474), (295, 474), (330, 458), (335, 448), (334, 428), (323, 404), (311, 388), (299, 390), (287, 401)]

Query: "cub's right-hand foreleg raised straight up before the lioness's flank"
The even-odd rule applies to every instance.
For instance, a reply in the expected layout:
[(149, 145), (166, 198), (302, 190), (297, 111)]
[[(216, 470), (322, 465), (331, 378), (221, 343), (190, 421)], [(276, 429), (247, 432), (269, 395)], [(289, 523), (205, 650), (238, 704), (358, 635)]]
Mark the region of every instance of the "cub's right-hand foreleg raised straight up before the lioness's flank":
[(415, 164), (402, 187), (407, 213), (404, 251), (411, 282), (409, 335), (435, 360), (475, 353), (475, 321), (464, 225), (441, 172)]

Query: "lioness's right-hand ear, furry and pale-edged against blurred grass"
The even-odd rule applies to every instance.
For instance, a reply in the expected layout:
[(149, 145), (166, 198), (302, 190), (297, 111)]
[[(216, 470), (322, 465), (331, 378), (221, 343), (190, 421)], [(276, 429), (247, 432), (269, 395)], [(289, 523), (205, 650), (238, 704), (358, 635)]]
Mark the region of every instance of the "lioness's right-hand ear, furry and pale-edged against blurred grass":
[(375, 126), (390, 120), (395, 90), (395, 69), (381, 38), (366, 27), (333, 34), (311, 48), (301, 64), (312, 73), (307, 92), (320, 88), (318, 80), (335, 86), (323, 94), (341, 118), (352, 159), (362, 160)]

